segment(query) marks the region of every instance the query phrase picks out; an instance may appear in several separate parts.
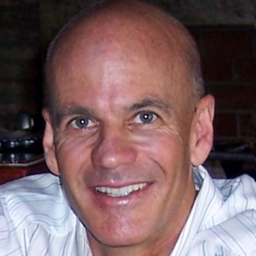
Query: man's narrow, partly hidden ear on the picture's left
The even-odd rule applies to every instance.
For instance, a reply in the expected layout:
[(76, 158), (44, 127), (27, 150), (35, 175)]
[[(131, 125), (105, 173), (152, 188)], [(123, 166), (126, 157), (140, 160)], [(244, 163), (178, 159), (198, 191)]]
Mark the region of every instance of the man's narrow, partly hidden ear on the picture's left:
[(44, 109), (42, 116), (46, 123), (43, 138), (44, 158), (49, 170), (56, 175), (60, 175), (55, 152), (54, 128), (49, 110)]

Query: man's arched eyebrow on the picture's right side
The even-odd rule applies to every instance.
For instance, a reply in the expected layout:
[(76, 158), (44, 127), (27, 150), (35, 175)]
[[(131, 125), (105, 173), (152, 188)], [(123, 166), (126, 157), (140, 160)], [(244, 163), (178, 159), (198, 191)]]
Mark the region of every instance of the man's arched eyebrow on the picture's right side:
[(172, 108), (171, 106), (165, 104), (161, 100), (150, 97), (150, 98), (143, 99), (140, 102), (133, 104), (132, 106), (128, 107), (128, 110), (136, 111), (136, 110), (140, 110), (142, 108), (147, 108), (147, 107), (160, 108), (160, 109), (164, 110), (165, 112), (169, 112), (169, 110)]

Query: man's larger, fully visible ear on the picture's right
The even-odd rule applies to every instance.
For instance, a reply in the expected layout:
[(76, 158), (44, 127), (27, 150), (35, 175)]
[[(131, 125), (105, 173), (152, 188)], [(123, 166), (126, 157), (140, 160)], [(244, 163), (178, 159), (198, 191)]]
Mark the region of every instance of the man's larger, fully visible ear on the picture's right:
[(198, 166), (206, 160), (213, 144), (213, 118), (215, 101), (206, 95), (196, 105), (190, 134), (191, 163)]

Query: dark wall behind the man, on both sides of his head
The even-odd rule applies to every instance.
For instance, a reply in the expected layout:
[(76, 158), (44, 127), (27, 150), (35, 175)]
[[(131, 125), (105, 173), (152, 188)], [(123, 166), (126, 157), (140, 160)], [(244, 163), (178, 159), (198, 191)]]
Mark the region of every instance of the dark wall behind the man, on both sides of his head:
[[(188, 28), (202, 55), (206, 90), (216, 96), (216, 139), (256, 140), (252, 1), (238, 0), (237, 6), (232, 5), (233, 1), (222, 0), (215, 4), (203, 1), (197, 6), (192, 0), (186, 0), (183, 5), (179, 1), (153, 2), (175, 11), (181, 20), (190, 24)], [(239, 8), (242, 2), (244, 5)], [(14, 129), (20, 111), (40, 114), (42, 56), (58, 29), (85, 3), (88, 1), (0, 1), (0, 127)], [(207, 8), (207, 3), (211, 8)], [(228, 15), (225, 10), (229, 10)], [(218, 15), (214, 15), (216, 12)]]

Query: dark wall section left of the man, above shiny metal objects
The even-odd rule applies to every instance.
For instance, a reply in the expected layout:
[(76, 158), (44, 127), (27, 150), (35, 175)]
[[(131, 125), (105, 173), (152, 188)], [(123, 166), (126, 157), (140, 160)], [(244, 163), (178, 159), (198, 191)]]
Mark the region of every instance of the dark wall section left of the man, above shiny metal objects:
[(42, 66), (37, 0), (0, 1), (0, 127), (19, 112), (40, 112)]

